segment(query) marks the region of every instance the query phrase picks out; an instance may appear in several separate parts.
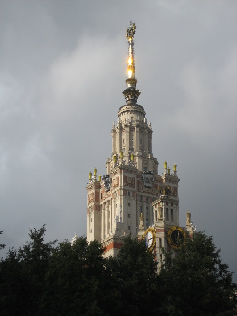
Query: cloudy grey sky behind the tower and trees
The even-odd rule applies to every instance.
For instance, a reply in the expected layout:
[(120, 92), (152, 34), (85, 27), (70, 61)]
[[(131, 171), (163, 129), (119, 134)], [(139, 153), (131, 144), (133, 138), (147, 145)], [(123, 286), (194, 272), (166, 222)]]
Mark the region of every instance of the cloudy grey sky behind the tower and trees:
[[(126, 27), (158, 173), (237, 272), (236, 1), (0, 2), (0, 243), (86, 234), (88, 173), (105, 174), (125, 104)], [(234, 276), (235, 282), (237, 276)]]

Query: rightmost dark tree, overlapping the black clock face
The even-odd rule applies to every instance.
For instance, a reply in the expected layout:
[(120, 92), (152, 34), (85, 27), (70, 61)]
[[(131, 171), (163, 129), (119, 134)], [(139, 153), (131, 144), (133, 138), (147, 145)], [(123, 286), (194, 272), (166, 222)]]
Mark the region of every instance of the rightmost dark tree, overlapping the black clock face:
[(212, 237), (198, 232), (160, 271), (164, 315), (229, 315), (236, 305), (232, 273), (221, 263)]

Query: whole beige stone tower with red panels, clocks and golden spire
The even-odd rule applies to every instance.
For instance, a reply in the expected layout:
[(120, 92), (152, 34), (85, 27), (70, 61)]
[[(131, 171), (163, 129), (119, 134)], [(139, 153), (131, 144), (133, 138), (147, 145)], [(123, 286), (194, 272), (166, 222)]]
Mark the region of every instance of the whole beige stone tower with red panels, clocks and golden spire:
[(136, 25), (130, 22), (126, 104), (119, 108), (112, 125), (112, 155), (106, 161), (106, 174), (89, 173), (87, 189), (87, 240), (99, 240), (105, 256), (116, 256), (126, 236), (144, 238), (162, 264), (161, 247), (175, 255), (185, 236), (191, 237), (191, 214), (186, 227), (179, 227), (179, 178), (164, 163), (158, 174), (158, 161), (152, 152), (151, 123), (143, 106), (137, 104), (140, 91), (135, 78), (133, 37)]

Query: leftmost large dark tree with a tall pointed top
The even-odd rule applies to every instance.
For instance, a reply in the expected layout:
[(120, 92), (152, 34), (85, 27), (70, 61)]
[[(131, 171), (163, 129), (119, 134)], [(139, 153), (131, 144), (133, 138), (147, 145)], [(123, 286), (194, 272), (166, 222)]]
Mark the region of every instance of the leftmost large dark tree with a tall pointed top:
[(56, 240), (44, 244), (45, 225), (30, 229), (30, 241), (9, 249), (0, 262), (0, 314), (36, 315), (44, 292), (44, 277)]

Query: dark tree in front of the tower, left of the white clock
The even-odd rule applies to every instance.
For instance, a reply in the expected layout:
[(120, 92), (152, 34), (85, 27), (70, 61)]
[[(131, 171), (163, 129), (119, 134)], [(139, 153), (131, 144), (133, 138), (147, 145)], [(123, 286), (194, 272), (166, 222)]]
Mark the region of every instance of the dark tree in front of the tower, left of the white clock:
[(147, 251), (145, 241), (131, 236), (125, 238), (115, 262), (120, 313), (146, 313), (154, 303), (153, 284), (157, 282), (157, 274), (154, 256)]

